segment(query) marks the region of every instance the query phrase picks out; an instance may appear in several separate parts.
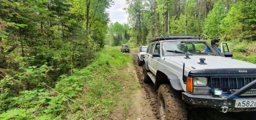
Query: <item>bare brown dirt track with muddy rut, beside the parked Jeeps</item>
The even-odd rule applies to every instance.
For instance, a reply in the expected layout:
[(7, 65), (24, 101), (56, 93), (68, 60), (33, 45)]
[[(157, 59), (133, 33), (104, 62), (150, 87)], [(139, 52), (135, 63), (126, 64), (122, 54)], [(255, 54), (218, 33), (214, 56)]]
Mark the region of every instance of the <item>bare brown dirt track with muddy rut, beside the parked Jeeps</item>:
[[(128, 54), (128, 53), (126, 53)], [(121, 95), (121, 102), (111, 112), (110, 120), (159, 120), (157, 110), (157, 94), (153, 91), (153, 85), (146, 85), (142, 80), (142, 67), (138, 66), (137, 55), (134, 56), (133, 65), (128, 63), (127, 71), (136, 76), (132, 84), (139, 83), (136, 90), (123, 87), (125, 95)], [(131, 81), (130, 81), (131, 82)], [(127, 102), (127, 103), (126, 103)]]

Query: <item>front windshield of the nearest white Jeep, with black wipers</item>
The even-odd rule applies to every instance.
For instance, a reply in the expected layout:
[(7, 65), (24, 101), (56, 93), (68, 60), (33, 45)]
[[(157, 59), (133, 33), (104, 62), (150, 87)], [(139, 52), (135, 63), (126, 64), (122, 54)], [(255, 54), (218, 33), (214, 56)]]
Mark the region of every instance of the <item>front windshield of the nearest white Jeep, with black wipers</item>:
[[(207, 50), (207, 51), (206, 51)], [(175, 52), (179, 51), (179, 52)], [(202, 41), (168, 41), (162, 42), (162, 55), (218, 55), (217, 52)]]

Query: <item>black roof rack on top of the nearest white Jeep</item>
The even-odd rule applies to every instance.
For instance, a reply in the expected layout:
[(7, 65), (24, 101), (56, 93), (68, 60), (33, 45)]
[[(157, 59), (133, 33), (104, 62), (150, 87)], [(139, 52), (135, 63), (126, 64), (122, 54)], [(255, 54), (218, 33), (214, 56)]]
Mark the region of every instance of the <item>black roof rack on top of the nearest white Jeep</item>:
[[(160, 37), (162, 36), (162, 37)], [(164, 34), (157, 35), (150, 39), (150, 42), (159, 42), (162, 40), (171, 40), (171, 39), (201, 39), (200, 34)]]

